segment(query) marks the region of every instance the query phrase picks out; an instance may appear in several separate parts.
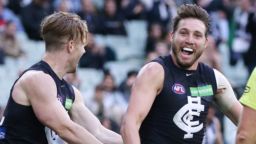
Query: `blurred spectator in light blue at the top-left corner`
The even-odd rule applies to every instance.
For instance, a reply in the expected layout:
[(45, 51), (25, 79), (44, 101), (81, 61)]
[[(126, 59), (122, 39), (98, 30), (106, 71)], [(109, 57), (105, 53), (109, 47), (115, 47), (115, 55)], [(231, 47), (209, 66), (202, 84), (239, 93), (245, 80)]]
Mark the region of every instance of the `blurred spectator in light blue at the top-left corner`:
[[(2, 18), (5, 22), (13, 21), (17, 26), (18, 31), (24, 31), (24, 27), (22, 26), (20, 19), (11, 9), (6, 7), (6, 0), (0, 0), (0, 18)], [(2, 20), (0, 23), (2, 23)]]

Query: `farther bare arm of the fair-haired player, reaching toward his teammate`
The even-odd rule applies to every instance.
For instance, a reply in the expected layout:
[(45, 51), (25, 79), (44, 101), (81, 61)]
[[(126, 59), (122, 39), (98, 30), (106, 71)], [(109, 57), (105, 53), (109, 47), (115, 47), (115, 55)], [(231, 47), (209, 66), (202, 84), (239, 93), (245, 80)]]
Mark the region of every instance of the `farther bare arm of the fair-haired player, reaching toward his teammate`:
[(75, 87), (73, 89), (76, 98), (69, 111), (71, 119), (76, 124), (87, 129), (87, 131), (104, 144), (123, 144), (121, 135), (102, 126), (98, 118), (85, 107), (82, 94), (79, 90)]

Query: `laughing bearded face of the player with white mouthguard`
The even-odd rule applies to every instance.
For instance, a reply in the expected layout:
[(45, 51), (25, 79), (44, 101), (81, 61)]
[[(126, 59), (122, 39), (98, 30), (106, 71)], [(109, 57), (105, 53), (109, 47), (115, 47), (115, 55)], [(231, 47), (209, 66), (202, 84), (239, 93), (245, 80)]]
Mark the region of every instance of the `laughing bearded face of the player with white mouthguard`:
[(171, 55), (174, 63), (187, 70), (197, 69), (199, 57), (208, 44), (206, 26), (195, 18), (180, 20), (177, 30), (171, 33)]

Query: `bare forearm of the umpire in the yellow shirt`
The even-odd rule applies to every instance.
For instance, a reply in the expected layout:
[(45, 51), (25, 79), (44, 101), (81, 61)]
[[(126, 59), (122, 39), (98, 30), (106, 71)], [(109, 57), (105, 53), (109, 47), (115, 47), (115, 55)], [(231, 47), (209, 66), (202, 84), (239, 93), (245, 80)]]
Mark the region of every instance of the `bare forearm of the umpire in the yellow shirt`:
[(244, 105), (241, 123), (237, 129), (236, 144), (255, 144), (256, 111)]

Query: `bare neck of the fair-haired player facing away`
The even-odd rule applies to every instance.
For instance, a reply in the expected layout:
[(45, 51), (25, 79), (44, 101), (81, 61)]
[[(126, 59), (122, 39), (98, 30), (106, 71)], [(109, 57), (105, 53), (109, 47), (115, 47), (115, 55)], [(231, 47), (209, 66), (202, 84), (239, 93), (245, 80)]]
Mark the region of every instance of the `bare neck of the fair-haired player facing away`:
[(67, 74), (67, 60), (65, 60), (65, 57), (61, 55), (61, 52), (59, 54), (45, 52), (42, 60), (50, 65), (50, 67), (57, 74), (59, 79), (62, 79), (63, 76)]

